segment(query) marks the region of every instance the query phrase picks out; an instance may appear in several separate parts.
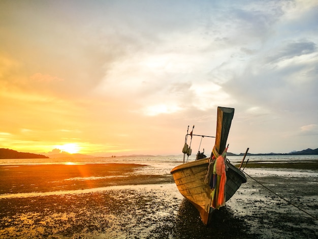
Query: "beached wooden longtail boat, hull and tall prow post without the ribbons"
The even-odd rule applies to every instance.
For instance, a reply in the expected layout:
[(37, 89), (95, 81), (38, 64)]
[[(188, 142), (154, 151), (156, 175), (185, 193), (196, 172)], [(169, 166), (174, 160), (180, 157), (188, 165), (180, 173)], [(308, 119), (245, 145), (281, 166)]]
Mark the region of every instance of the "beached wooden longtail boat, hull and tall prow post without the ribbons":
[[(226, 150), (233, 115), (233, 108), (217, 108), (214, 152), (216, 151), (219, 155)], [(208, 174), (208, 167), (211, 161), (213, 161), (211, 157), (199, 159), (183, 163), (171, 170), (179, 192), (197, 208), (205, 225), (210, 223), (211, 214), (215, 210), (212, 207), (213, 196), (211, 195), (215, 189), (211, 189), (210, 183), (207, 183), (207, 180), (210, 182), (213, 175)], [(246, 177), (240, 169), (236, 168), (226, 159), (224, 161), (227, 168), (225, 201), (228, 201), (241, 184), (246, 183)]]

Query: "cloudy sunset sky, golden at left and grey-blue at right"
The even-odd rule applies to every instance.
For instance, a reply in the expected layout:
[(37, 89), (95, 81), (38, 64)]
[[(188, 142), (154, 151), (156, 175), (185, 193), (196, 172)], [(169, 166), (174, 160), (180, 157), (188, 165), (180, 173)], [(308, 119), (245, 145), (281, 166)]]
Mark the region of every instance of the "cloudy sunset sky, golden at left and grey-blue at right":
[(229, 152), (314, 149), (318, 1), (1, 0), (0, 102), (19, 152), (179, 155), (217, 106)]

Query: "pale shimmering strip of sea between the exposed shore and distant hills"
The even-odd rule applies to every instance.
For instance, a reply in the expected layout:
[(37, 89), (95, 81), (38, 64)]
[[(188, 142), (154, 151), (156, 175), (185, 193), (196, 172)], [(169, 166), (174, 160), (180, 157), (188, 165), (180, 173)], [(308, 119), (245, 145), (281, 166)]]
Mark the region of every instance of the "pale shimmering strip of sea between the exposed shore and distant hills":
[[(233, 165), (239, 165), (242, 156), (228, 156), (227, 159)], [(185, 156), (185, 162), (196, 159), (195, 155)], [(264, 155), (246, 156), (245, 163), (318, 163), (318, 155)], [(171, 169), (183, 163), (183, 156), (147, 156), (147, 157), (95, 157), (95, 158), (48, 158), (48, 159), (0, 159), (2, 166), (18, 165), (47, 165), (47, 164), (105, 164), (105, 163), (134, 163), (146, 165), (138, 169), (136, 173), (164, 175), (169, 174)], [(291, 168), (244, 168), (249, 175), (266, 176), (318, 176), (317, 170), (291, 169)]]

